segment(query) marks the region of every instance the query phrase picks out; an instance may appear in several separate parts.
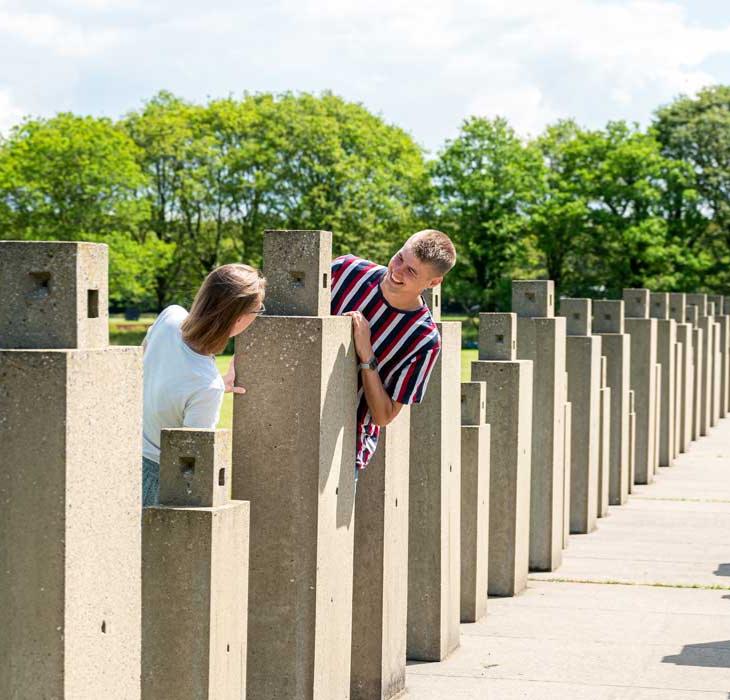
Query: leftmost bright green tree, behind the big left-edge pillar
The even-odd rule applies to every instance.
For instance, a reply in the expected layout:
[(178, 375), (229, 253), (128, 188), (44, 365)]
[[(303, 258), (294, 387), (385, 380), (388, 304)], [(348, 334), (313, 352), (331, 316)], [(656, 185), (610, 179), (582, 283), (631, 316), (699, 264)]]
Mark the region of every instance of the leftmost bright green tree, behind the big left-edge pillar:
[(138, 158), (135, 144), (108, 119), (63, 113), (23, 122), (0, 144), (3, 237), (108, 243), (111, 299), (142, 301), (150, 291), (138, 269), (148, 210)]

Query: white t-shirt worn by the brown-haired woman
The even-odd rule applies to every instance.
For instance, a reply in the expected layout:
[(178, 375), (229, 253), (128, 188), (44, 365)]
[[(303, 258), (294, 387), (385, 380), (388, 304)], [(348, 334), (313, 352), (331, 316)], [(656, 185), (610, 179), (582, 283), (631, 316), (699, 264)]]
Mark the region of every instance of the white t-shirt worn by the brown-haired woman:
[(225, 386), (212, 355), (201, 355), (182, 339), (188, 312), (168, 306), (144, 339), (142, 454), (160, 461), (163, 428), (215, 428)]

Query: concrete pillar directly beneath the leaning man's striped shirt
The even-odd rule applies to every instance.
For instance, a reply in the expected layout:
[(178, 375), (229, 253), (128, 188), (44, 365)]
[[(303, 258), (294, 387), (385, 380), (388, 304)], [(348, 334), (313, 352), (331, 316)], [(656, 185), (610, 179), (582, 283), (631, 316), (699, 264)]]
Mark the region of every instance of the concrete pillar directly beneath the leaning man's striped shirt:
[(384, 427), (355, 498), (351, 700), (392, 698), (406, 682), (410, 408)]

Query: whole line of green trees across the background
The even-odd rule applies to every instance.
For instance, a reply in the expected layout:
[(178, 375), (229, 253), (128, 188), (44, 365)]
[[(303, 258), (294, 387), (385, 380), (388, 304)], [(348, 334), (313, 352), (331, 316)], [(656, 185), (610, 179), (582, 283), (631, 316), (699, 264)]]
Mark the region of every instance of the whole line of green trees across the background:
[(469, 117), (432, 157), (330, 93), (206, 104), (160, 92), (119, 120), (60, 113), (0, 140), (2, 237), (111, 248), (117, 308), (189, 303), (205, 274), (261, 263), (267, 228), (328, 229), (387, 262), (439, 227), (459, 254), (444, 299), (508, 308), (514, 277), (564, 295), (626, 286), (730, 293), (730, 87), (647, 129), (549, 125), (532, 140)]

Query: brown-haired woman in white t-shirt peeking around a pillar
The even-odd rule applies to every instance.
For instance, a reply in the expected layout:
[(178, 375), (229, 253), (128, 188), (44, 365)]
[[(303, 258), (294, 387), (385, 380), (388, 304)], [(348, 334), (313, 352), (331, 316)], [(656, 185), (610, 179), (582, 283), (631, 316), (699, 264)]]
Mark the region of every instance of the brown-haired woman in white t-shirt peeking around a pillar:
[(215, 355), (264, 311), (266, 281), (248, 265), (213, 270), (195, 296), (190, 313), (168, 306), (155, 320), (144, 347), (142, 504), (160, 494), (160, 432), (163, 428), (215, 428), (225, 392), (234, 387), (231, 362), (221, 377)]

